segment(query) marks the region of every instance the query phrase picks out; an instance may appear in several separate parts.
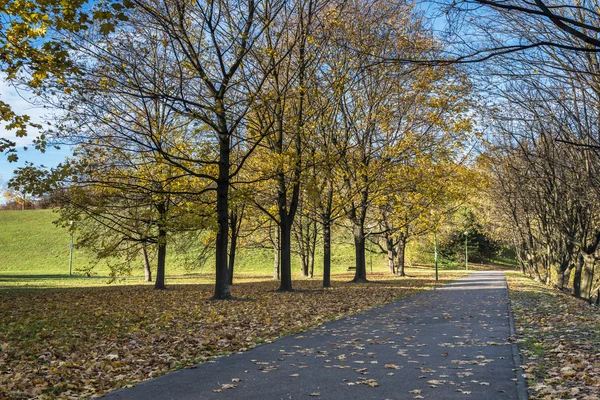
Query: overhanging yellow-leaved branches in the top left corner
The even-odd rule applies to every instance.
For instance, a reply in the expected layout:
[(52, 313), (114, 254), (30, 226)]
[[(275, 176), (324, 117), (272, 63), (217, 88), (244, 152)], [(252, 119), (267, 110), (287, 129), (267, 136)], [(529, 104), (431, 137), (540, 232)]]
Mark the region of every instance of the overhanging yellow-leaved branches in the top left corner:
[[(0, 71), (10, 85), (21, 86), (39, 93), (46, 79), (62, 79), (78, 73), (70, 59), (70, 43), (64, 35), (82, 32), (93, 24), (105, 31), (114, 29), (115, 23), (125, 20), (123, 10), (130, 6), (128, 0), (111, 1), (84, 7), (86, 1), (59, 0), (5, 0), (0, 11)], [(0, 121), (17, 137), (27, 131), (41, 128), (28, 115), (15, 112), (10, 104), (0, 100)], [(36, 149), (44, 151), (47, 145), (42, 134), (33, 140)], [(0, 152), (13, 162), (18, 159), (16, 143), (0, 138)]]

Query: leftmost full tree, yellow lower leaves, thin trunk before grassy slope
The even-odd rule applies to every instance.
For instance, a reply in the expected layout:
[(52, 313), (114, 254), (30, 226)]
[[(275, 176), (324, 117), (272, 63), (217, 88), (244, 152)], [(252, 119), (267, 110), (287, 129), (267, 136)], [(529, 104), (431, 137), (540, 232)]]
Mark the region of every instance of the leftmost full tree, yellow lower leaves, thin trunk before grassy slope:
[[(140, 94), (171, 84), (166, 46), (137, 49), (146, 51), (148, 64), (132, 72), (131, 91), (117, 83), (124, 63), (115, 65), (113, 58), (94, 53), (106, 46), (112, 56), (132, 61), (136, 53), (120, 51), (130, 49), (134, 37), (135, 32), (110, 38), (102, 32), (88, 34), (86, 40), (93, 45), (79, 60), (86, 74), (54, 83), (48, 101), (63, 114), (48, 137), (55, 144), (68, 144), (76, 155), (54, 168), (46, 181), (62, 189), (63, 220), (79, 221), (80, 230), (88, 233), (82, 243), (94, 248), (99, 258), (126, 254), (131, 259), (141, 253), (147, 266), (148, 246), (156, 246), (155, 288), (162, 289), (167, 235), (205, 229), (208, 222), (199, 213), (205, 212), (203, 204), (214, 201), (209, 195), (212, 190), (206, 189), (198, 174), (190, 175), (164, 154), (193, 151), (199, 157), (212, 157), (214, 151), (210, 144), (194, 142), (201, 128), (173, 104)], [(149, 75), (154, 79), (142, 80)], [(15, 182), (32, 181), (27, 170), (18, 172)]]

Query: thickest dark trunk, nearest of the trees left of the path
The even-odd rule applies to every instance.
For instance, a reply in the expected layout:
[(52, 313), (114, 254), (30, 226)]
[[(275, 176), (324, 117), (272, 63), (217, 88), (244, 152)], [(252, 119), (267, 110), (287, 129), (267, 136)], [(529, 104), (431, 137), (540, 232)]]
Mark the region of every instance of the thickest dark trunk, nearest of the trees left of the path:
[[(220, 121), (220, 125), (226, 125)], [(222, 132), (225, 132), (222, 130)], [(224, 300), (231, 297), (229, 292), (229, 267), (227, 259), (227, 242), (229, 238), (229, 157), (230, 137), (225, 133), (219, 135), (219, 179), (217, 181), (217, 244), (215, 254), (215, 294), (213, 299)]]

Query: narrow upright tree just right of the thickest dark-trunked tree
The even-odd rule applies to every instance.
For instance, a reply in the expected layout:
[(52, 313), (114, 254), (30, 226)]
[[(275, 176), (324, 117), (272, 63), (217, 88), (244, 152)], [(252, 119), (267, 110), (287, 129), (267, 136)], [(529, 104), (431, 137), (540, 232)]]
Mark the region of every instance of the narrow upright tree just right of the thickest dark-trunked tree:
[[(255, 202), (279, 229), (281, 291), (292, 290), (292, 226), (301, 195), (301, 177), (305, 169), (304, 136), (306, 124), (308, 75), (319, 55), (313, 40), (317, 13), (325, 1), (286, 3), (278, 18), (265, 29), (255, 57), (268, 72), (261, 98), (252, 110), (253, 130), (265, 136), (266, 148), (274, 165), (264, 165), (261, 180), (276, 185), (276, 211), (268, 203)], [(259, 153), (255, 157), (261, 157)], [(263, 160), (264, 162), (264, 160)]]

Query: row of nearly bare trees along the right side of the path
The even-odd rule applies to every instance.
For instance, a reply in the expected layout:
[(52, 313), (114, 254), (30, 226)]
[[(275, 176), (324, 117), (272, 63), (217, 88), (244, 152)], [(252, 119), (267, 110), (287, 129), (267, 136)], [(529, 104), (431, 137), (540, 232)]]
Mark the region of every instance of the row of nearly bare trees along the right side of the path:
[(491, 149), (499, 155), (491, 160), (491, 195), (505, 236), (523, 271), (588, 299), (600, 281), (600, 60), (597, 28), (587, 28), (600, 21), (591, 3), (553, 9), (555, 22), (574, 33), (548, 30), (539, 15), (501, 14), (505, 29), (518, 28), (524, 40), (563, 46), (498, 59), (486, 80), (495, 99)]

